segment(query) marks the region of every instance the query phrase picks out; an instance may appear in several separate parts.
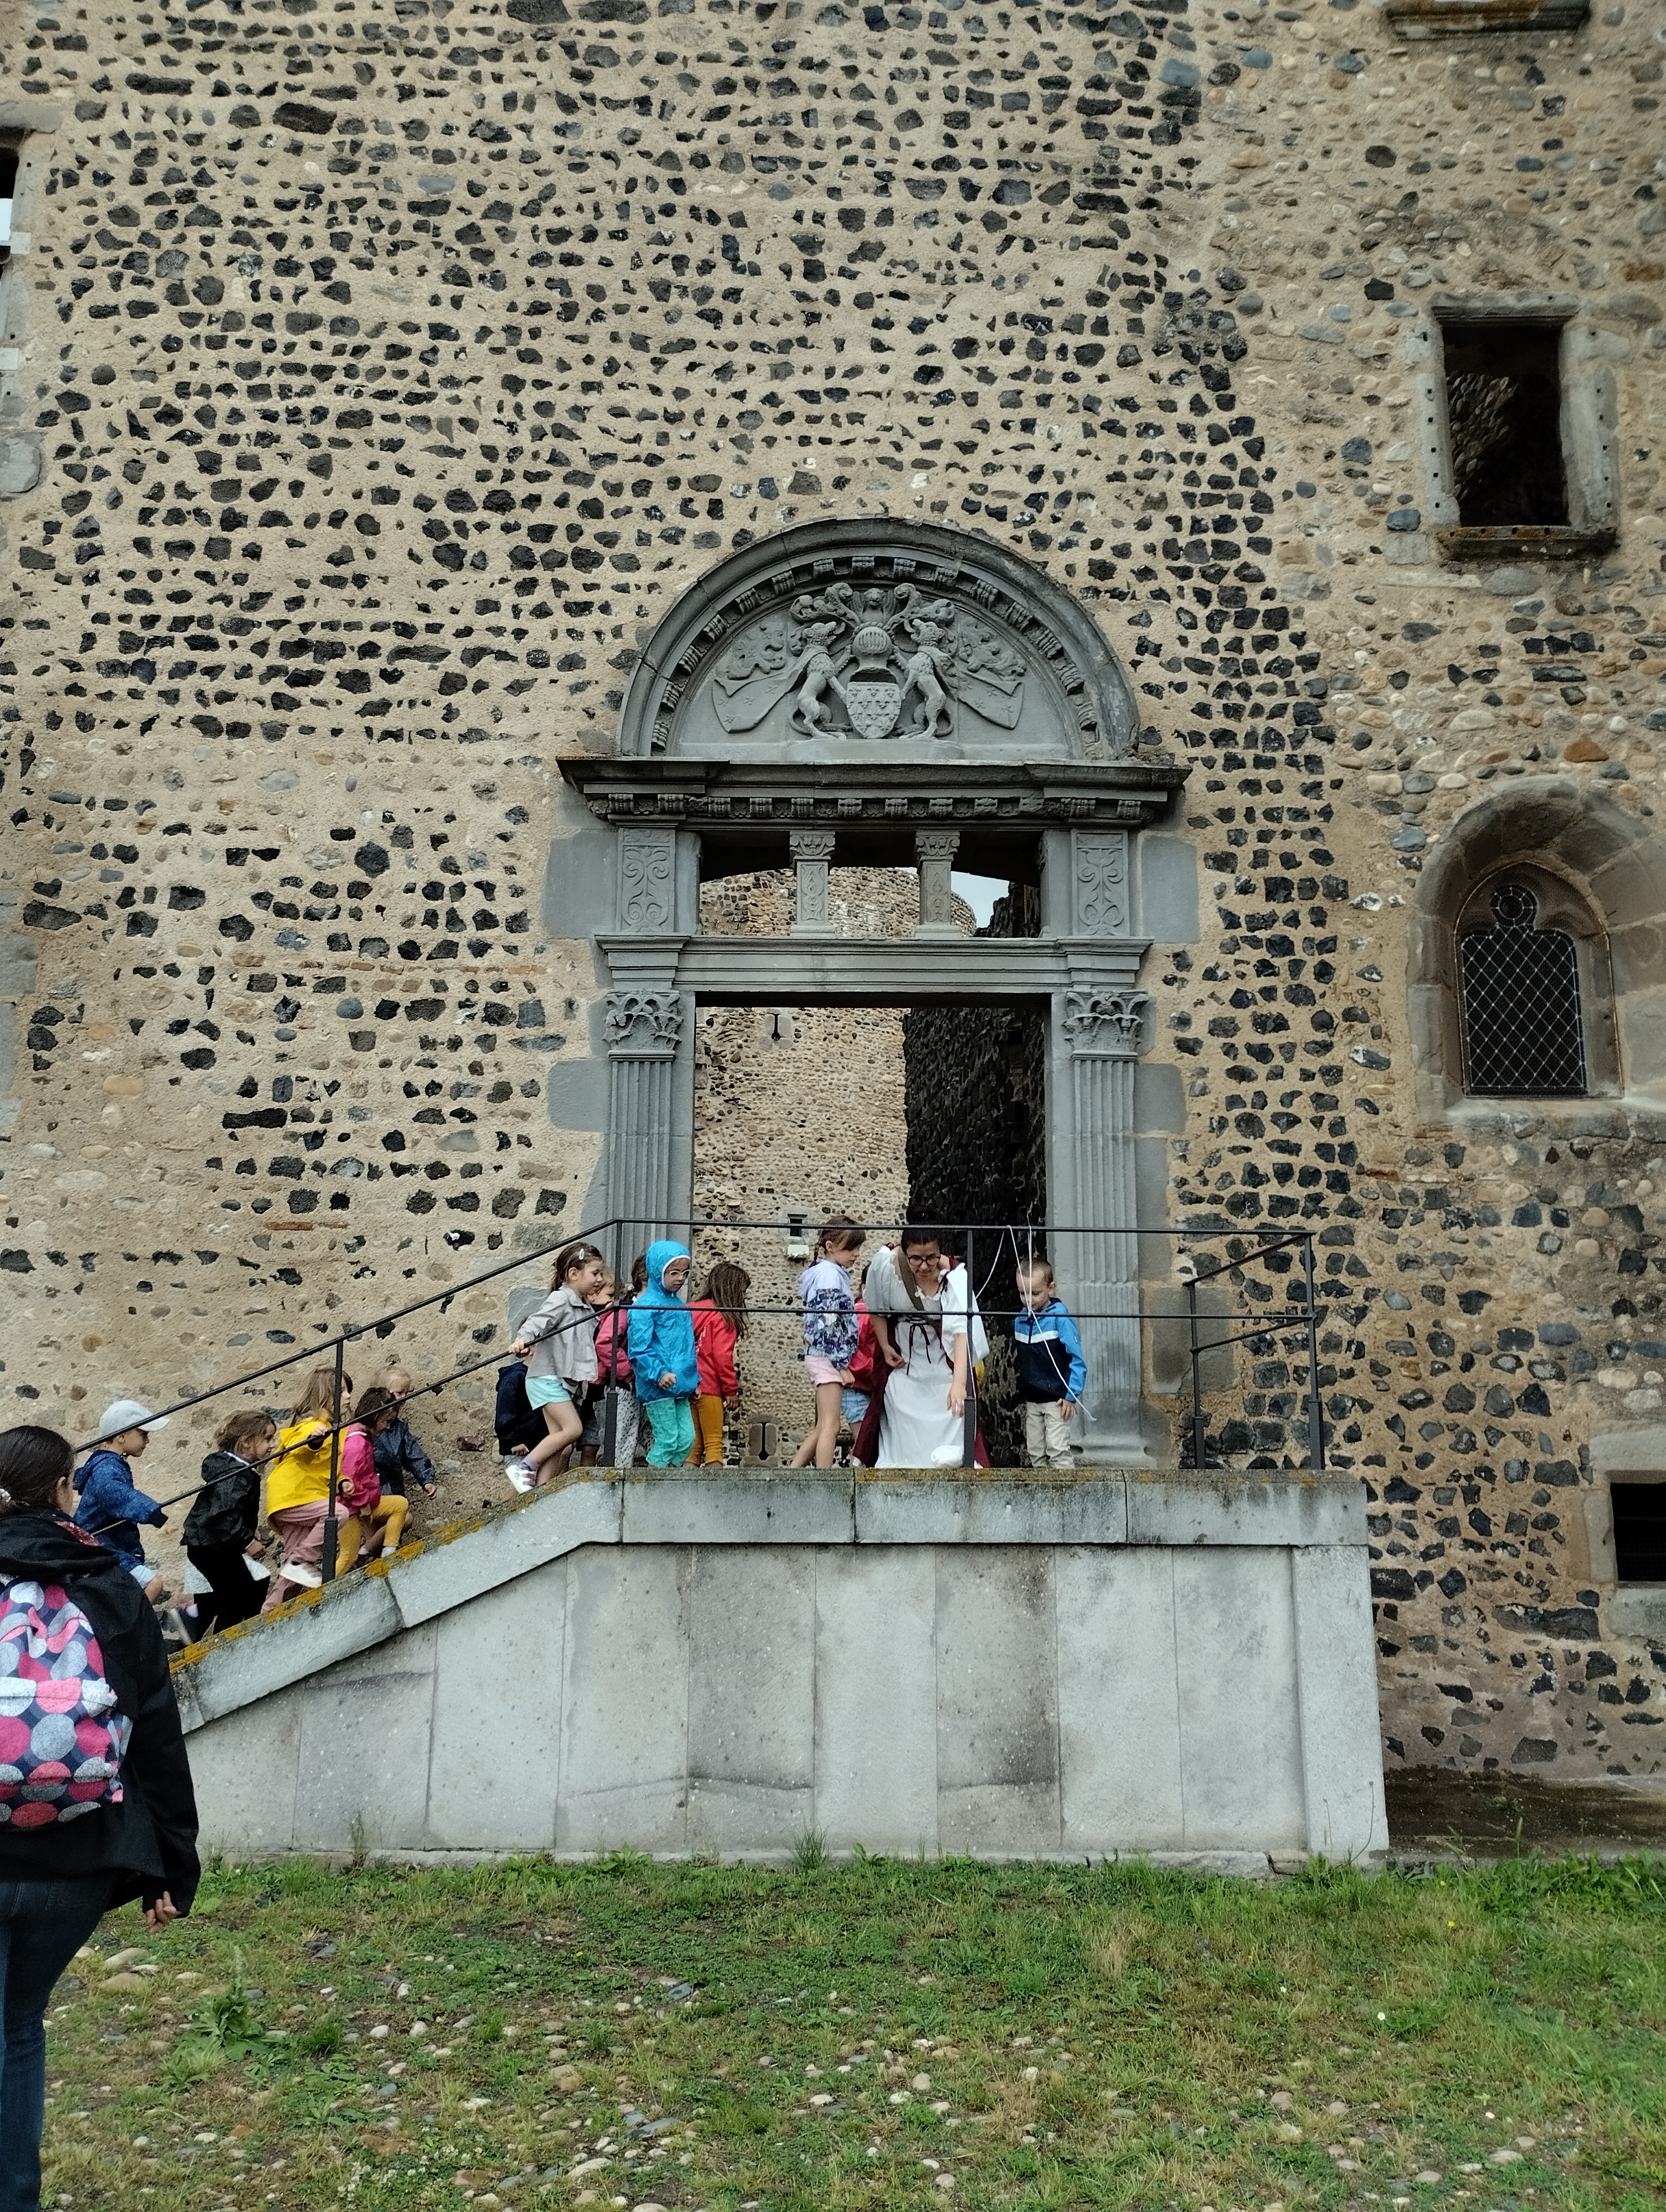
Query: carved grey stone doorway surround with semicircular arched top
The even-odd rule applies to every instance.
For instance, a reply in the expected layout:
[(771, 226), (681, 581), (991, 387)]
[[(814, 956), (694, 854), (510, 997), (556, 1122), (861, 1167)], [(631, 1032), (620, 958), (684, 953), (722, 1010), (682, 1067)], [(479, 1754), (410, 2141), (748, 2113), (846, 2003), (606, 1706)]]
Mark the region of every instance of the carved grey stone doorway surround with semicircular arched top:
[[(1148, 865), (1142, 834), (1173, 818), (1186, 770), (1137, 726), (1126, 675), (1084, 611), (956, 533), (788, 531), (677, 602), (644, 646), (613, 752), (560, 765), (604, 830), (573, 836), (560, 869), (611, 885), (613, 927), (593, 936), (606, 991), (604, 1210), (644, 1230), (693, 1219), (712, 1009), (726, 1024), (768, 1015), (770, 1048), (799, 1009), (816, 1009), (819, 1035), (823, 1015), (854, 1013), (836, 1044), (825, 1024), (834, 1051), (863, 1051), (856, 1040), (876, 1033), (863, 1020), (947, 1009), (996, 1020), (1033, 1066), (1040, 1002), (1044, 1077), (1022, 1088), (1044, 1095), (1044, 1177), (1033, 1137), (1004, 1150), (1013, 1168), (1029, 1161), (1031, 1190), (1044, 1181), (1040, 1210), (1073, 1225), (1053, 1259), (1060, 1290), (1093, 1316), (1082, 1447), (1104, 1464), (1144, 1460), (1139, 969), (1153, 920), (1186, 905), (1190, 847), (1181, 858), (1164, 834), (1148, 841)], [(847, 869), (914, 878), (903, 933), (836, 927), (830, 900)], [(1024, 885), (1022, 927), (1009, 916), (1007, 936), (967, 936), (958, 869)], [(783, 880), (779, 914), (746, 931), (721, 916), (710, 927), (708, 887), (752, 872)], [(750, 1044), (766, 1046), (757, 1029)], [(874, 1152), (870, 1119), (843, 1128), (852, 1161)], [(945, 1212), (976, 1221), (985, 1203), (967, 1192)], [(805, 1217), (825, 1210), (805, 1203)], [(909, 1197), (885, 1210), (896, 1219)]]

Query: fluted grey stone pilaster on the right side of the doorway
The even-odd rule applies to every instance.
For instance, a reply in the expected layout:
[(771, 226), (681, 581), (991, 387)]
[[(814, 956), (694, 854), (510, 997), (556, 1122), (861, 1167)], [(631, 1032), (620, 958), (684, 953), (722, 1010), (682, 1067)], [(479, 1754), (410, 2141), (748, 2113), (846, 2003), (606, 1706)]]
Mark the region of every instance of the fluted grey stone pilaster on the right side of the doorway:
[(1133, 1071), (1146, 993), (1075, 987), (1053, 995), (1047, 1084), (1049, 1243), (1080, 1316), (1089, 1385), (1077, 1442), (1089, 1464), (1146, 1458), (1139, 1422), (1139, 1241)]

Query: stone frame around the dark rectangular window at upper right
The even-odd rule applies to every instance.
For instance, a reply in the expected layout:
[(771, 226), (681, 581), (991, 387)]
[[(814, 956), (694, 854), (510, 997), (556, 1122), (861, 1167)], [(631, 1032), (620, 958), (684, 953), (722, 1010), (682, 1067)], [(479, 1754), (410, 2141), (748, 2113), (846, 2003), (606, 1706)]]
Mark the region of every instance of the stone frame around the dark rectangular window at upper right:
[[(1467, 4), (1467, 0), (1465, 0)], [(1524, 323), (1560, 332), (1562, 473), (1569, 520), (1482, 526), (1458, 520), (1447, 420), (1445, 330), (1465, 323)], [(1407, 336), (1418, 431), (1423, 438), (1425, 513), (1449, 562), (1589, 560), (1620, 535), (1620, 385), (1608, 363), (1611, 341), (1595, 330), (1571, 292), (1438, 292), (1425, 321)]]

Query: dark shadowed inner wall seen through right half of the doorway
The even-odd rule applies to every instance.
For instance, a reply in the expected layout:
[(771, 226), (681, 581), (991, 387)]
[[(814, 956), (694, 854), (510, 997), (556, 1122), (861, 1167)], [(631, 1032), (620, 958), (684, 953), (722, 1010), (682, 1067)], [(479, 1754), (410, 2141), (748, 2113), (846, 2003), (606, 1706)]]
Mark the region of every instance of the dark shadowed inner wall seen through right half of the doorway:
[[(1040, 933), (1040, 894), (1016, 883), (980, 938)], [(989, 1329), (982, 1429), (996, 1467), (1022, 1462), (1011, 1343), (1018, 1303), (1011, 1243), (978, 1225), (1047, 1221), (1047, 1004), (912, 1006), (903, 1020), (909, 1221), (971, 1230)], [(980, 1250), (982, 1245), (982, 1250)]]

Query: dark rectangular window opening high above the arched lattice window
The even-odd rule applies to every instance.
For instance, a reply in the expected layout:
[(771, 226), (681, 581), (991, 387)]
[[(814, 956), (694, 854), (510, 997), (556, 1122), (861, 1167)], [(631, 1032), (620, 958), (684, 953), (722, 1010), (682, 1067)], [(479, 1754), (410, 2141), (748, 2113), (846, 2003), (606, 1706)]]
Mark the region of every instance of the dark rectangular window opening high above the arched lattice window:
[(1447, 323), (1443, 336), (1458, 524), (1566, 522), (1562, 332), (1502, 321)]

